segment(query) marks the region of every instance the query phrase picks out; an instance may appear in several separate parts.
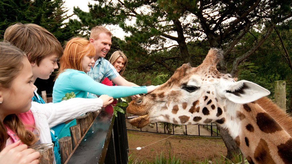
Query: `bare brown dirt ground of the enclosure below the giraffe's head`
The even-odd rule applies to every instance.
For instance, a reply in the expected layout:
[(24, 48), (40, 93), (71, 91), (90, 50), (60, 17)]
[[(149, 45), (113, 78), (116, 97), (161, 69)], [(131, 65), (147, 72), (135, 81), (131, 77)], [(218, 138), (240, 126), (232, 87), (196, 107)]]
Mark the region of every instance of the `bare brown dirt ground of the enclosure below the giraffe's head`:
[[(166, 144), (167, 143), (167, 144)], [(221, 159), (226, 156), (227, 149), (221, 138), (213, 137), (188, 137), (171, 136), (145, 132), (128, 131), (129, 156), (132, 161), (153, 161), (161, 152), (168, 159), (168, 147), (171, 149), (171, 157), (180, 156), (180, 161), (198, 163), (205, 159), (215, 163), (215, 157)], [(169, 146), (171, 145), (171, 146)], [(141, 150), (137, 150), (141, 147)]]

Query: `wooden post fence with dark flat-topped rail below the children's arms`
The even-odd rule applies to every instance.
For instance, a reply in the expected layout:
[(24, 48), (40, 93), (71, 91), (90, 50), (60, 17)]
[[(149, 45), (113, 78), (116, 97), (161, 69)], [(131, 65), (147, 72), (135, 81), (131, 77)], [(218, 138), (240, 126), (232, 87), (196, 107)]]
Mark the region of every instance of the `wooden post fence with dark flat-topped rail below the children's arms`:
[[(76, 118), (71, 137), (59, 139), (61, 163), (128, 163), (125, 115), (113, 115), (112, 106)], [(40, 163), (53, 163), (53, 143), (33, 146), (41, 153)]]

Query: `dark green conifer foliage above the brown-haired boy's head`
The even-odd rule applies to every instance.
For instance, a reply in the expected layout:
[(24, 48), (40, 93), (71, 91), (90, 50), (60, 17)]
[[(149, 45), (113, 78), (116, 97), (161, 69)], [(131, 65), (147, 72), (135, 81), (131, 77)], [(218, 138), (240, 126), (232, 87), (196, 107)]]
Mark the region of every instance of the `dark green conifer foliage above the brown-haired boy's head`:
[(77, 32), (64, 22), (71, 15), (67, 15), (68, 9), (63, 5), (63, 0), (0, 1), (0, 40), (3, 39), (7, 27), (20, 22), (44, 27), (64, 44), (77, 35)]

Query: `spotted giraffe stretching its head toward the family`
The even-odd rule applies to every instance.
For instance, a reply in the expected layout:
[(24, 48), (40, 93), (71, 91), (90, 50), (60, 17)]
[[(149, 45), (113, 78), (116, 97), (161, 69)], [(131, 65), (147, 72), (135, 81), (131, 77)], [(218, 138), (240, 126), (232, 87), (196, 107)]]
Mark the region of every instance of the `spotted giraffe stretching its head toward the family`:
[(222, 58), (222, 50), (211, 48), (198, 67), (183, 64), (166, 83), (129, 103), (130, 123), (142, 128), (155, 122), (214, 122), (249, 163), (292, 163), (292, 118), (265, 97), (270, 91), (220, 73), (216, 64)]

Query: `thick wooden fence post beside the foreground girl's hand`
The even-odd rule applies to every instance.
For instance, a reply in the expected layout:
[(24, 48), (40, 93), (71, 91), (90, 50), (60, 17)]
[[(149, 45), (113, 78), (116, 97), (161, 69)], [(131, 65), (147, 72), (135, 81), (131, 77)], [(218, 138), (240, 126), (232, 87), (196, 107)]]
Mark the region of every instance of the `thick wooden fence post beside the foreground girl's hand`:
[(54, 163), (54, 144), (47, 143), (47, 144), (37, 144), (31, 146), (32, 149), (38, 151), (41, 154), (39, 159), (40, 164), (52, 164)]

